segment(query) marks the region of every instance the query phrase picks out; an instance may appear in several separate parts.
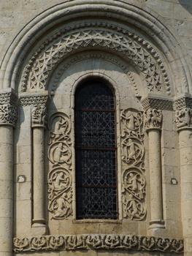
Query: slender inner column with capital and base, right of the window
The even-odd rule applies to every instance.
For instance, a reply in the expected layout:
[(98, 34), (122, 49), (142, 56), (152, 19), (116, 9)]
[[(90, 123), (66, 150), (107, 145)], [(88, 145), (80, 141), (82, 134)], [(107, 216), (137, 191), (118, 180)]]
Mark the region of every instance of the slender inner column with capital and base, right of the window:
[(145, 129), (149, 140), (150, 169), (150, 229), (164, 228), (162, 183), (161, 183), (161, 122), (162, 111), (148, 109), (145, 111)]

